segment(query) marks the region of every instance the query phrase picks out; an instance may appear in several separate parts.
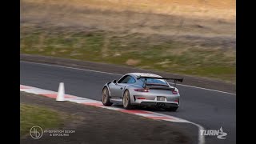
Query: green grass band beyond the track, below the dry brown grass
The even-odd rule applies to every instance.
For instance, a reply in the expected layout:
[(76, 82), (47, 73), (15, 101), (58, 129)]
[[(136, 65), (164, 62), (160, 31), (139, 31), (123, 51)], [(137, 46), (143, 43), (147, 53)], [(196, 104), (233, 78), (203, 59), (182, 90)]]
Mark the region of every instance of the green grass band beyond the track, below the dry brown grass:
[(155, 40), (143, 34), (21, 26), (21, 53), (73, 58), (235, 83), (235, 49)]

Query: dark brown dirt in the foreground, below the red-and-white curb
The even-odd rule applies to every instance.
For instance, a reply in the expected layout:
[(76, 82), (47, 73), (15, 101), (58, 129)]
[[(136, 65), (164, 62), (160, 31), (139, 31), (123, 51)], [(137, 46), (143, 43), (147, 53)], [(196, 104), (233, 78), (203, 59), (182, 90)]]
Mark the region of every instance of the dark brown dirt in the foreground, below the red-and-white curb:
[[(52, 98), (20, 92), (20, 102), (69, 113), (80, 120), (70, 122), (57, 130), (75, 130), (68, 137), (50, 137), (44, 134), (37, 140), (30, 136), (21, 143), (194, 143), (197, 130), (180, 127), (173, 122), (160, 122), (148, 118), (84, 106), (73, 102), (56, 102)], [(40, 124), (38, 124), (40, 125)], [(56, 130), (56, 129), (55, 129)], [(192, 138), (193, 137), (193, 138)]]

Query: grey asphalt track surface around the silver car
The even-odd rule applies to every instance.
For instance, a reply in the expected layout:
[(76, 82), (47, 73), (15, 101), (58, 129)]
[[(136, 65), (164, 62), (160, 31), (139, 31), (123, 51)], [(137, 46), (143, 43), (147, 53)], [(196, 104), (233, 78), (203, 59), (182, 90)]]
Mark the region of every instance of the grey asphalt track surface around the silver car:
[[(100, 100), (102, 86), (120, 78), (117, 74), (70, 69), (59, 66), (20, 62), (20, 84), (46, 90), (58, 90), (65, 83), (66, 94)], [(219, 130), (222, 126), (226, 139), (206, 136), (207, 143), (236, 143), (236, 95), (196, 87), (178, 85), (181, 106), (177, 112), (155, 112), (183, 118), (203, 126), (206, 130)]]

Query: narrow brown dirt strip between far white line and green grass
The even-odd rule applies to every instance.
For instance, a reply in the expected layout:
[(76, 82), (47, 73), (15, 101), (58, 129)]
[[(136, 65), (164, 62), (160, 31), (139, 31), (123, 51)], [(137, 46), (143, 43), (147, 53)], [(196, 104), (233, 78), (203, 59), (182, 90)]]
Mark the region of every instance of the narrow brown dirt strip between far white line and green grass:
[(236, 93), (236, 86), (234, 84), (220, 82), (208, 78), (197, 78), (186, 75), (169, 74), (165, 72), (159, 72), (154, 70), (142, 70), (131, 66), (117, 66), (113, 64), (98, 63), (98, 62), (86, 62), (67, 58), (56, 58), (49, 56), (41, 56), (34, 54), (20, 54), (20, 60), (26, 62), (41, 62), (48, 64), (55, 64), (59, 66), (70, 66), (75, 68), (87, 69), (87, 70), (98, 70), (114, 74), (126, 74), (130, 72), (146, 72), (162, 75), (163, 77), (175, 77), (184, 78), (182, 84), (190, 86), (199, 86), (203, 88), (222, 90), (230, 93)]

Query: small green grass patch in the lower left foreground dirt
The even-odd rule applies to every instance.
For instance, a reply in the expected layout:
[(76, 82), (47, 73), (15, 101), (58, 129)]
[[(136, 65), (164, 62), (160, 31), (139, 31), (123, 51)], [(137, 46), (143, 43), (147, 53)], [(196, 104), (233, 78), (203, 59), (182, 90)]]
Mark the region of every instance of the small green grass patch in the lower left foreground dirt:
[(30, 134), (32, 126), (40, 126), (42, 130), (62, 126), (64, 120), (71, 118), (68, 114), (60, 113), (43, 106), (20, 104), (20, 135)]

